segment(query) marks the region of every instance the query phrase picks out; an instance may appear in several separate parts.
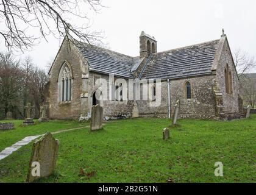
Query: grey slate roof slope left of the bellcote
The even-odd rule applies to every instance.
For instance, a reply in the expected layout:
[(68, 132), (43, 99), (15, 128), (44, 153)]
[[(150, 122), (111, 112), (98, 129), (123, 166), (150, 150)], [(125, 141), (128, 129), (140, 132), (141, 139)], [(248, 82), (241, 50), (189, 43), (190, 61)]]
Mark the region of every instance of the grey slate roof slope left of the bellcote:
[(88, 60), (90, 71), (133, 78), (130, 71), (133, 66), (133, 57), (87, 43), (77, 44), (77, 48)]

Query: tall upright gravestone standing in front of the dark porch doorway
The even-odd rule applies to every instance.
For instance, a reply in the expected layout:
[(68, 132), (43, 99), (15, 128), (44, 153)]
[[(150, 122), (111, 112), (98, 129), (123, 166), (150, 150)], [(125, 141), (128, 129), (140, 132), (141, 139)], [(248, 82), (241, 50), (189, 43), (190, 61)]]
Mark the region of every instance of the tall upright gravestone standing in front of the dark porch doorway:
[(102, 129), (103, 107), (94, 105), (91, 108), (91, 131)]

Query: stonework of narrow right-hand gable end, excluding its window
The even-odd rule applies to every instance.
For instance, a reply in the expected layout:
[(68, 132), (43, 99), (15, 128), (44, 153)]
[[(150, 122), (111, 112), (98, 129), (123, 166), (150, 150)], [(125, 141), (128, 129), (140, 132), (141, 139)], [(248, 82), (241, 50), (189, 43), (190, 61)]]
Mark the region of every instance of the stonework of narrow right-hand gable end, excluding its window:
[[(225, 83), (225, 67), (229, 66), (232, 72), (232, 94), (226, 93)], [(222, 49), (221, 57), (219, 60), (218, 68), (216, 69), (216, 78), (218, 81), (218, 88), (222, 93), (223, 110), (221, 113), (222, 118), (237, 118), (240, 117), (239, 109), (239, 86), (238, 76), (235, 71), (235, 66), (232, 60), (232, 54), (230, 53), (229, 44), (227, 40), (224, 42), (224, 48)]]

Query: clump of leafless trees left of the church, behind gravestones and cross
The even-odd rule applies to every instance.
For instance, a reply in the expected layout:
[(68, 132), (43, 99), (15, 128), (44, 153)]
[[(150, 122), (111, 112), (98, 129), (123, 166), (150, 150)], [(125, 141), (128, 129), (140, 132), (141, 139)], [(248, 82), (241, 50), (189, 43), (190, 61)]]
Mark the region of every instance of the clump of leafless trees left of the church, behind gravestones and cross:
[(38, 118), (40, 105), (45, 102), (48, 75), (37, 68), (30, 57), (22, 62), (12, 54), (0, 52), (0, 118), (13, 112), (16, 118), (24, 118), (24, 106), (35, 105)]

